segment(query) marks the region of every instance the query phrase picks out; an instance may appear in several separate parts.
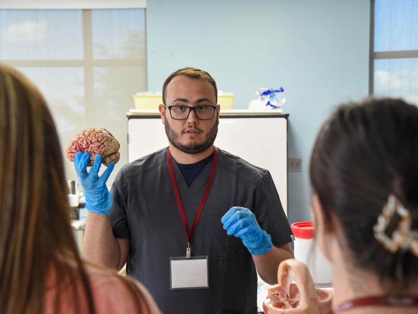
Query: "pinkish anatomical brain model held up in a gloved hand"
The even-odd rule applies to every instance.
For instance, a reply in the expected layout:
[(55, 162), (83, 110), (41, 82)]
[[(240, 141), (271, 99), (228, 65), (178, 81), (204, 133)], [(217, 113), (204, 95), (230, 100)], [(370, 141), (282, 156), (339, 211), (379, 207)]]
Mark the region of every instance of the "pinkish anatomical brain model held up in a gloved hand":
[(97, 154), (102, 155), (102, 163), (108, 165), (111, 161), (119, 161), (119, 142), (104, 128), (89, 128), (81, 131), (73, 137), (67, 145), (65, 155), (70, 161), (74, 161), (77, 152), (90, 153), (88, 166), (91, 166)]

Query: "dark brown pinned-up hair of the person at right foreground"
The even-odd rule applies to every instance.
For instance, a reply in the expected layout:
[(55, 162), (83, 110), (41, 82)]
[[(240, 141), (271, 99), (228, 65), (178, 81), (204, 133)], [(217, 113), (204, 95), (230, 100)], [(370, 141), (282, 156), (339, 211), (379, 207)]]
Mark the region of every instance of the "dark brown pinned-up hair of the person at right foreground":
[(310, 160), (313, 192), (320, 199), (325, 230), (342, 227), (351, 261), (407, 287), (418, 276), (418, 258), (391, 253), (373, 226), (389, 194), (418, 228), (418, 108), (401, 99), (369, 98), (338, 107), (321, 127)]

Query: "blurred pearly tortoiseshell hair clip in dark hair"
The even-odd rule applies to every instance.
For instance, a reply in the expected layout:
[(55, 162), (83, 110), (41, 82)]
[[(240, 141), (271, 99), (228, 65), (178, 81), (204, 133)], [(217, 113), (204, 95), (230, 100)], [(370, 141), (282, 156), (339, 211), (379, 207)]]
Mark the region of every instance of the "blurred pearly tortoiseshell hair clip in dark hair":
[(373, 227), (375, 238), (390, 252), (399, 249), (418, 256), (418, 232), (411, 230), (411, 213), (390, 194)]

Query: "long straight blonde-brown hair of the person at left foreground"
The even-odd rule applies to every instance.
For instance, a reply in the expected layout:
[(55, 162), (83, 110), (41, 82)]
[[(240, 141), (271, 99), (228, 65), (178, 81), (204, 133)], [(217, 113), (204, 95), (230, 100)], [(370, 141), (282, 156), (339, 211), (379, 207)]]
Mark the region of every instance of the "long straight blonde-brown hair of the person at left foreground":
[[(90, 313), (90, 282), (70, 226), (60, 141), (46, 101), (21, 73), (0, 64), (0, 312), (43, 313), (47, 270), (72, 286)], [(70, 262), (69, 262), (70, 261)], [(74, 270), (83, 290), (73, 281)], [(121, 280), (140, 298), (136, 285)], [(55, 313), (60, 313), (57, 289)], [(71, 297), (71, 296), (69, 296)], [(140, 303), (136, 298), (137, 304)]]

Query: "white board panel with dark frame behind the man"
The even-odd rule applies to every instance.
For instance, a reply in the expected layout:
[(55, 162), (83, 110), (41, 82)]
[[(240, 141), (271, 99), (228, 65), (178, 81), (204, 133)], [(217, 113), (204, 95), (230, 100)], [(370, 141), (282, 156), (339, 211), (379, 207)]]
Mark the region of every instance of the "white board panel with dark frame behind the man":
[[(215, 146), (269, 170), (287, 216), (287, 118), (222, 116)], [(128, 161), (168, 146), (159, 116), (128, 119)]]

